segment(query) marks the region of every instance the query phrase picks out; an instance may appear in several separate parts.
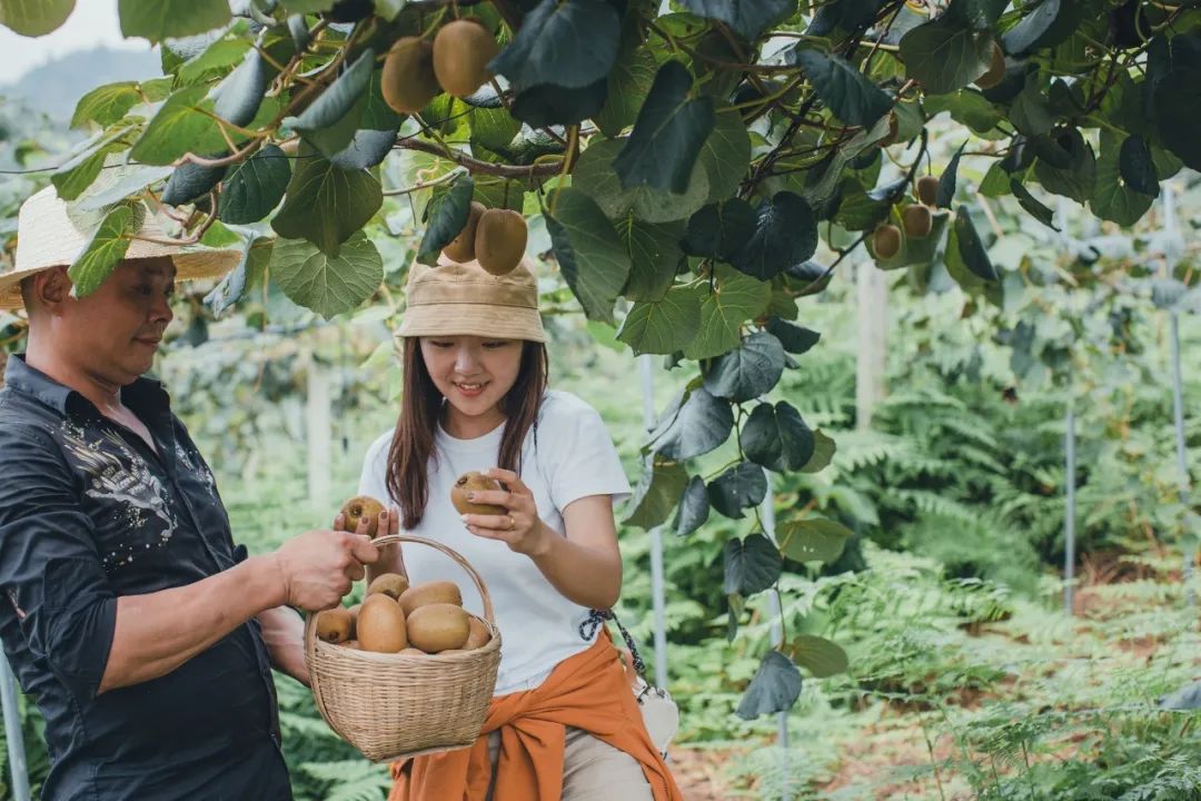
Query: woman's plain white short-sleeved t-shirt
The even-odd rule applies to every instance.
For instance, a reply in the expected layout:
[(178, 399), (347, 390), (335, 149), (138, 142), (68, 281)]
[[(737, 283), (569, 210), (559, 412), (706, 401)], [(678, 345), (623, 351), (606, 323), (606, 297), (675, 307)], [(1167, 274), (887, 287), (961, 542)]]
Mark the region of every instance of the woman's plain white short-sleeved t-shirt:
[[(459, 476), (497, 466), (503, 430), (501, 425), (474, 440), (456, 440), (438, 426), (436, 459), (429, 466), (429, 502), (422, 522), (407, 532), (458, 551), (488, 586), (501, 629), (497, 695), (537, 687), (556, 664), (596, 639), (596, 633), (590, 640), (580, 636), (587, 608), (561, 596), (528, 556), (467, 531), (450, 504), (450, 488)], [(390, 498), (386, 476), (392, 437), (389, 431), (371, 444), (359, 479), (359, 492), (381, 501)], [(629, 495), (629, 482), (600, 416), (575, 395), (557, 390), (546, 393), (538, 422), (521, 444), (521, 480), (533, 492), (538, 516), (560, 534), (566, 534), (562, 510), (573, 501), (610, 495), (616, 503)], [(448, 556), (414, 544), (402, 545), (402, 551), (413, 584), (454, 581), (462, 590), (464, 606), (483, 614), (474, 582)]]

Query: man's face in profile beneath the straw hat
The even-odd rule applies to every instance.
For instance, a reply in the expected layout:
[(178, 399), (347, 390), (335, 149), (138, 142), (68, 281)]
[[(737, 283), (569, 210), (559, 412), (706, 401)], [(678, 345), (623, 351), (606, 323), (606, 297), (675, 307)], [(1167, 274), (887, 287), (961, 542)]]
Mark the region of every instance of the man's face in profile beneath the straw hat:
[(86, 298), (66, 298), (58, 334), (68, 358), (97, 378), (125, 385), (154, 364), (171, 322), (171, 258), (123, 262)]

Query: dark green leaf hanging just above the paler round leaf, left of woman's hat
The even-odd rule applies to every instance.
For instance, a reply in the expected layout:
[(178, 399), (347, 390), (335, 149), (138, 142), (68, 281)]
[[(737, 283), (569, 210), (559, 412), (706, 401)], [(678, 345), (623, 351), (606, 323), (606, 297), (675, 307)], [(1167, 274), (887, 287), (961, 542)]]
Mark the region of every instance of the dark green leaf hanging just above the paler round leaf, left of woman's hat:
[(383, 205), (380, 181), (366, 172), (334, 167), (306, 144), (271, 227), (288, 239), (307, 239), (330, 258)]

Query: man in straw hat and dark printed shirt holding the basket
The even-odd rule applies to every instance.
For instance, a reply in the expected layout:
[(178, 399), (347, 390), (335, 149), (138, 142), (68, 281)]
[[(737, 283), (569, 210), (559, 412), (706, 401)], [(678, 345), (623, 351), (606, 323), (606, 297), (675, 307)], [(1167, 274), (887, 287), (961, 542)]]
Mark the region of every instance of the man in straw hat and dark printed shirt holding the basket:
[(86, 237), (53, 190), (22, 207), (17, 235), (0, 309), (25, 307), (29, 341), (0, 390), (0, 638), (46, 718), (42, 799), (289, 799), (270, 669), (307, 675), (288, 606), (337, 603), (378, 554), (310, 531), (247, 557), (142, 377), (175, 281), (238, 253), (135, 239), (74, 298), (66, 265)]

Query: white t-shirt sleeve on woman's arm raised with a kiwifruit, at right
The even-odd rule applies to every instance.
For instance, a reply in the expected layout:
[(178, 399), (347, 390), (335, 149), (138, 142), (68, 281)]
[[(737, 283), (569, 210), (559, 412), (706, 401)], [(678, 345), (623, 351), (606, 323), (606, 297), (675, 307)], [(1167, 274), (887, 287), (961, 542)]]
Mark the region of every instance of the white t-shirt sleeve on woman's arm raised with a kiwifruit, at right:
[(575, 401), (561, 418), (545, 431), (556, 456), (548, 476), (555, 507), (590, 495), (611, 495), (614, 506), (628, 498), (629, 480), (600, 414)]

